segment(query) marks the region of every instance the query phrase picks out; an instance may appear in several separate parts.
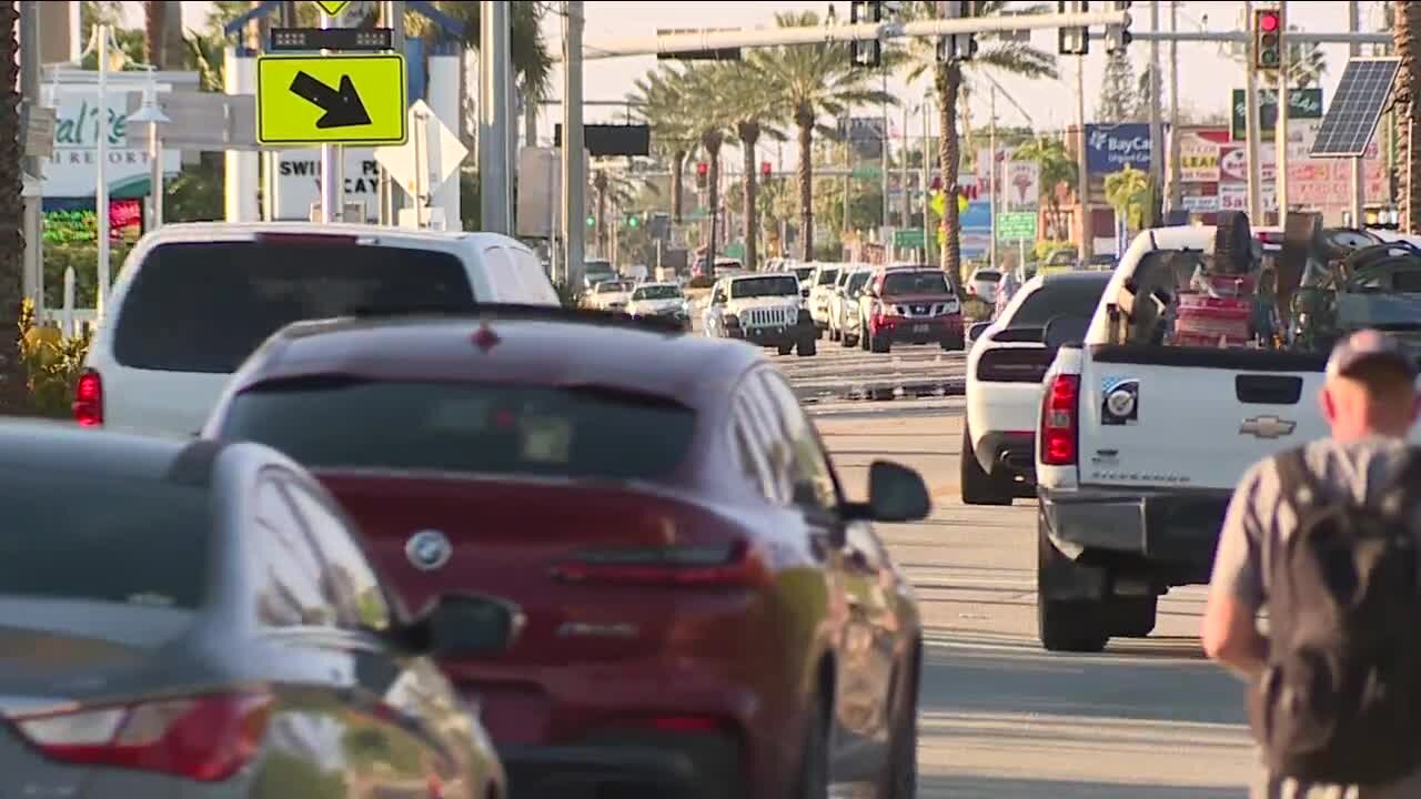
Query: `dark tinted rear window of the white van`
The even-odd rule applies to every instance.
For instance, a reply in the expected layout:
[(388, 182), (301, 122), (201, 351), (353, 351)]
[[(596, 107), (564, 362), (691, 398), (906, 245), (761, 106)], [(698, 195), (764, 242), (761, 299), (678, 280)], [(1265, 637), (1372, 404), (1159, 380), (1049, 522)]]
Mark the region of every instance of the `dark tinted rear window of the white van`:
[(114, 357), (131, 368), (226, 374), (293, 321), (473, 307), (463, 263), (448, 253), (340, 240), (171, 243), (134, 277)]

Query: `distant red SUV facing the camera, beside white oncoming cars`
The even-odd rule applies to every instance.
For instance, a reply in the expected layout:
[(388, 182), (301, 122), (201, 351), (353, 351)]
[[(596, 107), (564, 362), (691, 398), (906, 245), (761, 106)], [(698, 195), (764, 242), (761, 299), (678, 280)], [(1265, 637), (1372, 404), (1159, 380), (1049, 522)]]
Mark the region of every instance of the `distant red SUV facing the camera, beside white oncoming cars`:
[(939, 344), (962, 350), (962, 303), (941, 269), (880, 267), (868, 280), (863, 334), (865, 350), (887, 353), (894, 344)]

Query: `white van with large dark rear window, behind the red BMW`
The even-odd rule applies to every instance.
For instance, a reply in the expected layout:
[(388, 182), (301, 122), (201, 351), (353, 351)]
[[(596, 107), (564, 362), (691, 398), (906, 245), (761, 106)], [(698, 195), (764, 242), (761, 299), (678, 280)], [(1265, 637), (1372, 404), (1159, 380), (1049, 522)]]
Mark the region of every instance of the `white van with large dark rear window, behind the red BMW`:
[(129, 253), (74, 397), (84, 427), (193, 435), (279, 328), (475, 303), (560, 304), (531, 249), (497, 233), (304, 222), (168, 225)]

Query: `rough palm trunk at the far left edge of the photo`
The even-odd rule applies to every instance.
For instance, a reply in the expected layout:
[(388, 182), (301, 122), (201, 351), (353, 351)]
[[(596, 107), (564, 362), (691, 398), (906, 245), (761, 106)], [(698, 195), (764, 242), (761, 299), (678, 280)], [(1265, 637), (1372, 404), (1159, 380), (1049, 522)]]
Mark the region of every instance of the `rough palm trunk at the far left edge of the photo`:
[[(0, 1), (0, 414), (30, 412), (30, 375), (20, 353), (24, 303), (24, 200), (20, 178), (20, 9)], [(28, 45), (28, 43), (27, 43)]]

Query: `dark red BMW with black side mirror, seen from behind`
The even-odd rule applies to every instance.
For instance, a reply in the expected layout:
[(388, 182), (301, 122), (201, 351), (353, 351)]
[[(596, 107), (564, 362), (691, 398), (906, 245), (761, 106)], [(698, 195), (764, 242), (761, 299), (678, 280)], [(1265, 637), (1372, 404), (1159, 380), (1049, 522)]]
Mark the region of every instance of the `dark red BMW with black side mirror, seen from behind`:
[(757, 347), (558, 309), (301, 323), (203, 435), (307, 465), (409, 607), (522, 606), (506, 654), (443, 663), (514, 798), (914, 795), (921, 628), (870, 522), (926, 489), (875, 462), (848, 502)]

